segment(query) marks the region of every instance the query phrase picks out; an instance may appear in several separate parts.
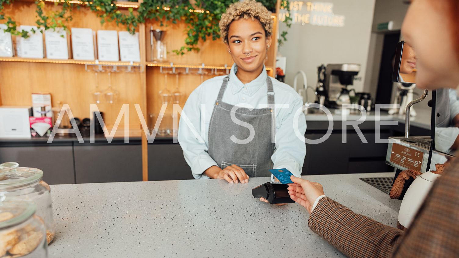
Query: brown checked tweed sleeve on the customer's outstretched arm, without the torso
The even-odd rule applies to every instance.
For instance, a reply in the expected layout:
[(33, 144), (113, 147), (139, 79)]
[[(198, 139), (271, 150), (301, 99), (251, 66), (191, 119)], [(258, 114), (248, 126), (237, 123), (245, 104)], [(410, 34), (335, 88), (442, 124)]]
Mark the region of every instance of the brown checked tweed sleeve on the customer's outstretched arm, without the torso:
[(348, 257), (390, 257), (404, 235), (328, 197), (320, 199), (309, 216), (308, 226)]

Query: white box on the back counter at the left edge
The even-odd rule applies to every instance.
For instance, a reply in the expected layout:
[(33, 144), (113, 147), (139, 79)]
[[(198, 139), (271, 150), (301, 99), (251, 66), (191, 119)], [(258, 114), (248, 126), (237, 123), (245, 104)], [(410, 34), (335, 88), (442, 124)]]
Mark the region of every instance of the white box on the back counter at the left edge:
[(31, 107), (0, 106), (0, 137), (30, 138)]

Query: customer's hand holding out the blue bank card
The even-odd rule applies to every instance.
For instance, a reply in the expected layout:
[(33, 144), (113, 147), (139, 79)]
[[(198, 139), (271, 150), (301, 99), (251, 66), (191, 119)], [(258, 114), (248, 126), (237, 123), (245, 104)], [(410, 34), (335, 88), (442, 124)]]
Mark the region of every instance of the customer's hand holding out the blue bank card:
[(311, 214), (315, 200), (325, 195), (324, 188), (321, 184), (304, 180), (301, 177), (291, 176), (290, 180), (293, 184), (288, 184), (287, 188), (290, 198), (301, 204)]

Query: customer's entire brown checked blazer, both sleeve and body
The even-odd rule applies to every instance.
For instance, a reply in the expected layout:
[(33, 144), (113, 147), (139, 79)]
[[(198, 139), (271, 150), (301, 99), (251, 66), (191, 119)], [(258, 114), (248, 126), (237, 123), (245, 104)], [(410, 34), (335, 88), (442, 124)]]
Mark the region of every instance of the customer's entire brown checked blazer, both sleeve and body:
[(320, 199), (308, 225), (348, 257), (459, 257), (459, 159), (445, 167), (406, 232), (328, 197)]

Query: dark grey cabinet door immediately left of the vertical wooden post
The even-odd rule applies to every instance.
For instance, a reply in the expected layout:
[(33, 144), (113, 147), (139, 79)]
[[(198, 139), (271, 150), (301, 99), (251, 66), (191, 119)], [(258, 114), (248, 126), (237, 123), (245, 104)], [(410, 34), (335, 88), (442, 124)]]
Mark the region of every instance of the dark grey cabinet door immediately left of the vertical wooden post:
[(74, 143), (77, 183), (142, 181), (139, 143)]

